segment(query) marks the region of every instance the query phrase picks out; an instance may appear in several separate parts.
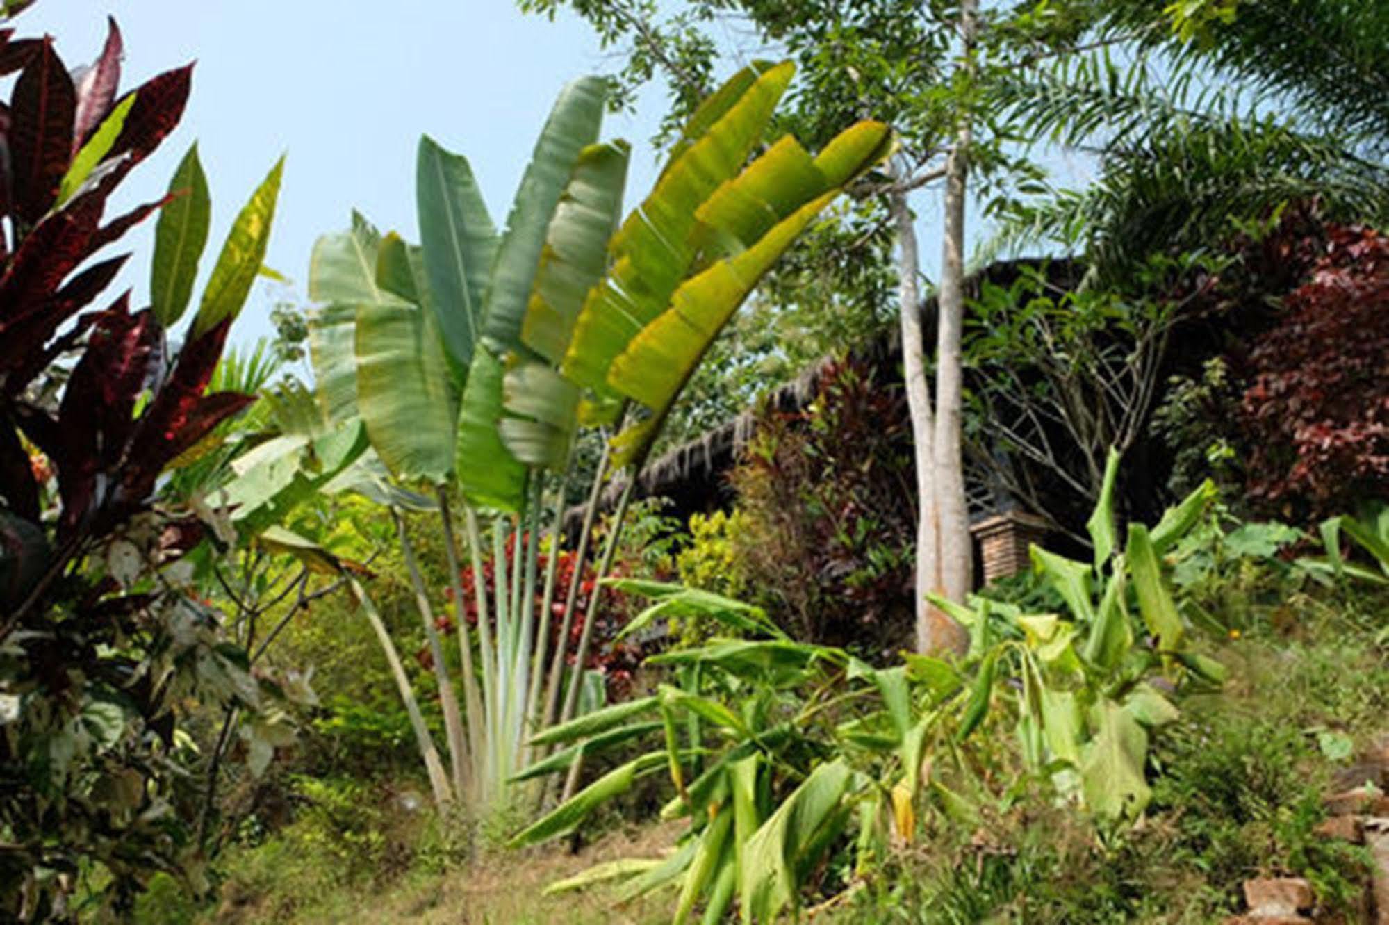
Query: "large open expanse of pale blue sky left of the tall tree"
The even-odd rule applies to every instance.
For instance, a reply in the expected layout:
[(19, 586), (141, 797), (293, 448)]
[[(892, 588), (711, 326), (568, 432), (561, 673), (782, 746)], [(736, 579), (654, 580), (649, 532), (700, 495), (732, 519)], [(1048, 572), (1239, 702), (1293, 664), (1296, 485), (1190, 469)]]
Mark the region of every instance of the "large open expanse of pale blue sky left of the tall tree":
[[(117, 206), (157, 199), (196, 139), (213, 194), (206, 278), (232, 218), (288, 153), (265, 262), (294, 282), (299, 299), (314, 239), (346, 226), (353, 207), (383, 229), (418, 238), (414, 160), (422, 132), (468, 156), (501, 224), (560, 86), (606, 65), (582, 22), (525, 17), (513, 0), (39, 0), (15, 25), (19, 35), (51, 33), (71, 68), (100, 53), (108, 14), (125, 38), (122, 88), (197, 60), (178, 132), (132, 172)], [(611, 115), (606, 124), (607, 136), (638, 149), (632, 194), (654, 179), (646, 140), (661, 111), (651, 92), (642, 118)], [(140, 304), (153, 238), (151, 218), (124, 242), (135, 250), (124, 285)], [(285, 294), (258, 285), (233, 339), (271, 332), (269, 307)]]

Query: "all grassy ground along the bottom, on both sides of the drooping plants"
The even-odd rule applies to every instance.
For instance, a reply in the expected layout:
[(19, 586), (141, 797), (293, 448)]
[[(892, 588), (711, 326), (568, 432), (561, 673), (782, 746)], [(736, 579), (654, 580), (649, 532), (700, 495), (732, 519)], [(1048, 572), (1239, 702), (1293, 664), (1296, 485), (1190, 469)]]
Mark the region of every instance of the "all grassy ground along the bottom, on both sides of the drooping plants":
[[(1018, 768), (1011, 729), (992, 729), (979, 825), (924, 814), (928, 831), (915, 847), (895, 850), (870, 882), (814, 921), (1196, 925), (1238, 912), (1240, 883), (1267, 875), (1307, 878), (1326, 915), (1318, 921), (1347, 915), (1365, 881), (1365, 854), (1315, 828), (1321, 797), (1351, 771), (1354, 754), (1389, 733), (1389, 650), (1379, 638), (1389, 596), (1295, 590), (1251, 600), (1238, 631), (1210, 640), (1229, 668), (1224, 690), (1185, 700), (1182, 718), (1154, 739), (1153, 803), (1139, 825), (1097, 832), (1042, 783), (1021, 799), (1006, 796)], [(650, 817), (653, 794), (608, 815), (607, 835), (579, 851), (469, 857), (460, 839), (444, 836), (456, 826), (401, 811), (401, 786), (329, 778), (299, 781), (297, 792), (294, 822), (224, 858), (214, 906), (156, 882), (142, 921), (668, 921), (669, 894), (625, 907), (603, 888), (543, 894), (604, 860), (668, 849), (678, 825), (633, 824)]]

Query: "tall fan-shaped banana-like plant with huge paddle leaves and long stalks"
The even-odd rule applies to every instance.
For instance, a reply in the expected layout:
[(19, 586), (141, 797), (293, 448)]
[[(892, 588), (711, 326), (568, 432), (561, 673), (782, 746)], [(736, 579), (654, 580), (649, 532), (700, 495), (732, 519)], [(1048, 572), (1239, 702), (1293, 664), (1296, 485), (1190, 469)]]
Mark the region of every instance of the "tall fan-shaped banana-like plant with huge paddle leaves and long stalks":
[[(818, 156), (783, 138), (749, 161), (792, 69), (757, 64), (711, 96), (625, 221), (629, 147), (600, 140), (606, 85), (583, 78), (556, 101), (500, 233), (467, 158), (425, 138), (419, 244), (354, 215), (351, 229), (314, 249), (310, 294), (321, 308), (310, 347), (324, 415), (332, 425), (360, 418), (394, 482), (424, 485), (436, 501), (457, 608), (463, 710), (433, 631), (432, 599), (407, 533), (399, 536), (435, 654), (453, 789), (482, 812), (510, 804), (532, 733), (579, 711), (601, 597), (594, 593), (579, 614), (578, 583), (603, 482), (629, 474), (614, 515), (619, 525), (631, 474), (714, 338), (776, 257), (886, 153), (886, 126), (861, 122)], [(579, 567), (569, 588), (558, 589), (558, 556), (539, 574), (540, 535), (560, 549), (582, 426), (615, 436), (588, 493)], [(600, 574), (611, 567), (618, 535), (607, 532)], [(492, 594), (483, 581), (489, 553)], [(475, 640), (461, 586), (465, 558), (479, 614)], [(550, 651), (551, 604), (561, 593), (560, 642)]]

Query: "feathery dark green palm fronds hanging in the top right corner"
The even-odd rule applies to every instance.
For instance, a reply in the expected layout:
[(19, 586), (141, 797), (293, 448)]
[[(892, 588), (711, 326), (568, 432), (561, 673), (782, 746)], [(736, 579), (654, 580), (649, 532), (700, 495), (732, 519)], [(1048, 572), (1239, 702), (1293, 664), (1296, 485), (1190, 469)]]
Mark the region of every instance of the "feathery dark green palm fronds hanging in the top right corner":
[[(1289, 21), (1293, 7), (1324, 32)], [(1389, 221), (1379, 86), (1389, 14), (1361, 7), (1382, 4), (1239, 4), (1231, 22), (1182, 42), (1161, 4), (1104, 4), (1078, 39), (1092, 50), (1018, 68), (990, 89), (1020, 136), (1095, 154), (1099, 176), (1015, 204), (990, 249), (1058, 242), (1108, 274), (1147, 253), (1210, 244), (1292, 200), (1317, 199), (1332, 218)], [(1322, 49), (1347, 32), (1335, 53)], [(1375, 54), (1374, 74), (1333, 93)]]

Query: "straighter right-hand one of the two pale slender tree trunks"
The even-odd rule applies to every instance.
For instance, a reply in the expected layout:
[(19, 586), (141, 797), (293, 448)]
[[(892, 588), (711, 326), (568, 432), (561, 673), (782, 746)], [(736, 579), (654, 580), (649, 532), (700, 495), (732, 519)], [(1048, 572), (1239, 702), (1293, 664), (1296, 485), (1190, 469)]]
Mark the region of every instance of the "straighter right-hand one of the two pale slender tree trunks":
[[(963, 0), (960, 4), (960, 38), (963, 43), (963, 67), (970, 81), (965, 93), (971, 92), (974, 78), (974, 43), (978, 0)], [(940, 318), (936, 338), (936, 435), (933, 450), (936, 456), (936, 517), (939, 524), (940, 593), (954, 601), (963, 601), (974, 586), (974, 546), (970, 539), (970, 511), (964, 494), (964, 454), (960, 446), (960, 429), (964, 406), (964, 383), (961, 369), (960, 340), (964, 328), (964, 247), (965, 247), (965, 199), (968, 196), (971, 117), (970, 100), (965, 99), (958, 114), (958, 131), (954, 150), (946, 162), (945, 235), (940, 258)], [(954, 621), (940, 615), (933, 621), (949, 631), (933, 640), (936, 649), (963, 651), (968, 635)], [(947, 621), (947, 622), (946, 622)]]

